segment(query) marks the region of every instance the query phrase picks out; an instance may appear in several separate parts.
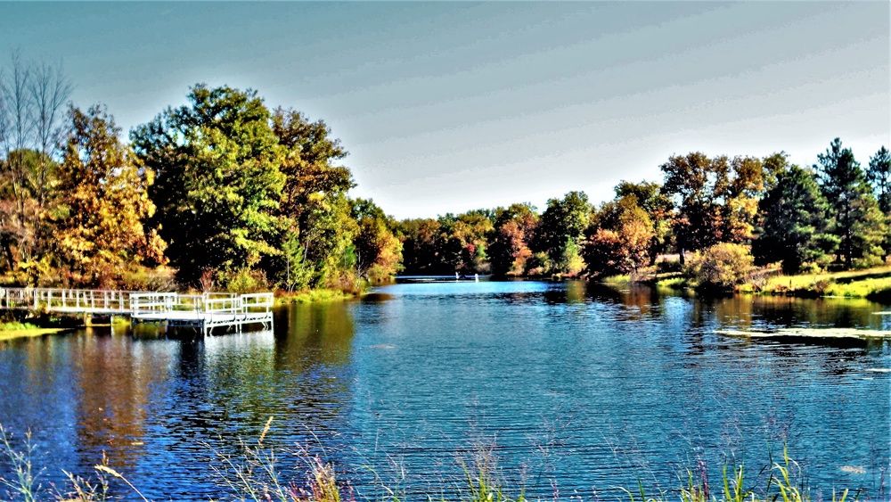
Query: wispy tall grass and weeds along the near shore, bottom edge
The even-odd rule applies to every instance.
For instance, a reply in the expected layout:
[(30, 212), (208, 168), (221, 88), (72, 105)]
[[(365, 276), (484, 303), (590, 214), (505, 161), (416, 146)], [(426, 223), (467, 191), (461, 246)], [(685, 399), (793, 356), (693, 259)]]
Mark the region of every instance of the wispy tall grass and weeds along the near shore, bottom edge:
[[(228, 493), (220, 501), (239, 502), (356, 502), (357, 494), (349, 482), (338, 479), (333, 465), (324, 462), (321, 457), (309, 455), (304, 450), (299, 450), (298, 461), (303, 462), (305, 473), (303, 480), (282, 479), (279, 470), (279, 458), (276, 450), (267, 447), (264, 443), (266, 433), (272, 419), (266, 423), (266, 427), (259, 439), (252, 443), (241, 443), (241, 452), (238, 457), (225, 454), (217, 449), (214, 452), (214, 461), (209, 465), (217, 474), (218, 481)], [(53, 490), (42, 490), (38, 477), (40, 471), (35, 471), (31, 463), (31, 455), (34, 452), (30, 434), (26, 434), (23, 441), (23, 449), (16, 449), (12, 445), (9, 434), (0, 425), (0, 439), (2, 439), (3, 451), (0, 457), (5, 457), (5, 463), (12, 472), (11, 479), (0, 478), (0, 486), (6, 489), (6, 493), (0, 494), (0, 500), (39, 502), (53, 500), (56, 502), (106, 502), (119, 499), (121, 494), (112, 495), (113, 488), (119, 488), (129, 492), (130, 498), (135, 494), (143, 502), (150, 502), (127, 478), (111, 468), (103, 457), (102, 464), (94, 466), (94, 479), (85, 479), (66, 473), (67, 483), (64, 487), (53, 487)], [(524, 495), (522, 487), (507, 487), (499, 476), (492, 449), (478, 449), (470, 461), (470, 464), (462, 459), (458, 460), (464, 473), (464, 479), (453, 491), (446, 490), (444, 485), (437, 494), (426, 494), (422, 497), (428, 502), (529, 502)], [(648, 496), (642, 484), (634, 489), (618, 487), (624, 497), (609, 498), (609, 500), (627, 500), (628, 502), (816, 502), (824, 500), (818, 494), (813, 497), (811, 488), (807, 485), (806, 477), (800, 466), (789, 458), (789, 451), (783, 448), (781, 460), (765, 466), (756, 481), (750, 482), (746, 478), (748, 471), (743, 465), (727, 465), (723, 469), (721, 482), (717, 487), (712, 486), (707, 477), (707, 469), (701, 462), (696, 471), (688, 469), (685, 477), (678, 479), (678, 485), (670, 492), (662, 492), (657, 496)], [(112, 481), (119, 483), (119, 487), (112, 487)], [(747, 484), (748, 483), (748, 484)], [(436, 489), (434, 489), (436, 490)], [(516, 493), (511, 495), (509, 491)], [(394, 490), (387, 490), (388, 496), (380, 498), (380, 502), (402, 502), (402, 498)], [(860, 493), (853, 496), (848, 490), (833, 491), (832, 502), (848, 502), (859, 500)], [(881, 494), (879, 494), (879, 498)], [(366, 498), (362, 498), (366, 499)], [(584, 502), (584, 500), (607, 500), (598, 498), (594, 493), (593, 498), (570, 497), (571, 500)], [(554, 486), (552, 502), (559, 502), (560, 492)], [(827, 500), (828, 502), (828, 500)]]

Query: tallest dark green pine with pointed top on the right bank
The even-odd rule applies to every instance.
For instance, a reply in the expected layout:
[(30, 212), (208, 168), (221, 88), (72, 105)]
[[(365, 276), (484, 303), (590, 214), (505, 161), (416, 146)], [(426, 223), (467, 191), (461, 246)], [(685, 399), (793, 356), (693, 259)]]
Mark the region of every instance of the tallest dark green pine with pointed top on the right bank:
[(846, 268), (879, 263), (887, 226), (854, 152), (842, 148), (836, 138), (817, 160), (813, 167), (823, 196), (830, 203), (830, 216), (836, 221), (833, 232), (839, 238), (838, 259), (844, 259)]

